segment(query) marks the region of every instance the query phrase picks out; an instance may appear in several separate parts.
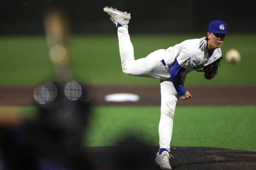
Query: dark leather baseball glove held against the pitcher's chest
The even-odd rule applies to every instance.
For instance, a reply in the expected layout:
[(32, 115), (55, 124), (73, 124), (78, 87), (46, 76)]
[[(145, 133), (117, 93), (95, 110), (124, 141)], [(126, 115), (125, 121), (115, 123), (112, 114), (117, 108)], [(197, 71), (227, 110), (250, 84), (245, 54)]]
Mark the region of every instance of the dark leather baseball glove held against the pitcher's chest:
[(218, 60), (214, 61), (212, 64), (203, 67), (201, 70), (196, 70), (196, 72), (204, 72), (204, 78), (210, 80), (218, 74), (218, 68), (220, 67), (220, 60), (223, 60), (223, 57), (220, 57)]

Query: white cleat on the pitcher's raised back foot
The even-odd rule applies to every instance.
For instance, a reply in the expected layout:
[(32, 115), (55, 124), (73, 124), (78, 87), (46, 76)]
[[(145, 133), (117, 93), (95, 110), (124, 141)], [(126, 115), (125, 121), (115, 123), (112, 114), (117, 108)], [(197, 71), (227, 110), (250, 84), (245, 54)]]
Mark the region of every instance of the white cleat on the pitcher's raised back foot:
[(130, 13), (125, 12), (121, 12), (118, 11), (117, 9), (114, 8), (110, 8), (110, 7), (104, 7), (103, 8), (104, 12), (107, 12), (108, 15), (110, 15), (110, 19), (111, 21), (113, 21), (114, 24), (117, 23), (121, 24), (123, 27), (128, 28), (128, 23), (129, 23), (129, 19), (130, 19)]

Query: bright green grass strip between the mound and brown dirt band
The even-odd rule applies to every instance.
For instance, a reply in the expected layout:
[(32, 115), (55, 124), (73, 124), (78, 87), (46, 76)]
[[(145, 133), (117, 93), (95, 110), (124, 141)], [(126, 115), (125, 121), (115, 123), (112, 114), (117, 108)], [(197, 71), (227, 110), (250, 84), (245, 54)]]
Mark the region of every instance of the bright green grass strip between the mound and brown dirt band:
[[(33, 118), (34, 107), (21, 109)], [(127, 134), (159, 145), (160, 107), (94, 107), (85, 146), (112, 146)], [(171, 146), (204, 146), (256, 151), (256, 106), (177, 107)]]

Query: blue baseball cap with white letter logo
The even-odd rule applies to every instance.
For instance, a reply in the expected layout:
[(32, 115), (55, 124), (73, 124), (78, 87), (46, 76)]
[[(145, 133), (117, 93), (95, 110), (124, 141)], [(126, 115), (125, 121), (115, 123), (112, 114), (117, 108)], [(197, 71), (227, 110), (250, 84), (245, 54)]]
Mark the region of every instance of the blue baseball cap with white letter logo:
[(210, 22), (208, 32), (230, 35), (228, 33), (228, 24), (226, 22), (220, 21), (220, 20), (214, 20), (214, 21)]

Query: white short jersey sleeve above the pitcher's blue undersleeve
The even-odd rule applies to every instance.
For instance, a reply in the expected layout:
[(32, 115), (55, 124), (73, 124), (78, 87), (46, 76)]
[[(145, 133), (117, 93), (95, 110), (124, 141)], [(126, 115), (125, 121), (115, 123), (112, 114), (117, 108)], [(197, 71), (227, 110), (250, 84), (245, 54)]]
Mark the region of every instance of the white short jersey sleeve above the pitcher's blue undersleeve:
[(197, 67), (200, 61), (197, 51), (184, 47), (176, 58), (181, 67), (185, 69), (192, 69)]

